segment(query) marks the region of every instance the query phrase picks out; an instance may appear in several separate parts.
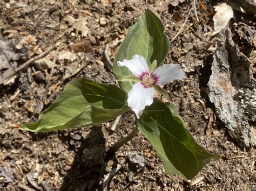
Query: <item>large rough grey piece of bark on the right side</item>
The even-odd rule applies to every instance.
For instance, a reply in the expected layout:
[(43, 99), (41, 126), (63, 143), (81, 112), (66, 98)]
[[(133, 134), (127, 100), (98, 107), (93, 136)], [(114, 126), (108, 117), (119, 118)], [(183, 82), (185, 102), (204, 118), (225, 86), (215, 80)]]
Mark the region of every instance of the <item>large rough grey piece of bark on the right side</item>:
[[(244, 54), (239, 53), (230, 29), (222, 30), (219, 33), (217, 50), (213, 55), (207, 94), (228, 133), (239, 145), (245, 147), (255, 145), (254, 130), (250, 125), (255, 122), (255, 79), (251, 64)], [(244, 90), (251, 93), (246, 95), (251, 96), (246, 103), (243, 101), (246, 96), (241, 94)], [(251, 111), (248, 110), (250, 108)]]

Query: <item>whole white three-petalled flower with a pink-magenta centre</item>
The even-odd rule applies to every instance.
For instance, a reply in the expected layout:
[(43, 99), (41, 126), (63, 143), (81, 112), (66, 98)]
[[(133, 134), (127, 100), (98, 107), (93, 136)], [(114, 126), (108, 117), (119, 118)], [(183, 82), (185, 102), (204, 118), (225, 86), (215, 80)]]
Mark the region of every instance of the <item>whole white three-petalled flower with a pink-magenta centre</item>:
[(133, 55), (131, 60), (117, 62), (118, 66), (129, 68), (131, 73), (140, 79), (133, 84), (128, 93), (128, 106), (135, 112), (139, 119), (146, 105), (153, 103), (153, 85), (164, 85), (173, 80), (183, 80), (186, 76), (179, 64), (167, 64), (158, 67), (150, 74), (146, 60), (140, 55)]

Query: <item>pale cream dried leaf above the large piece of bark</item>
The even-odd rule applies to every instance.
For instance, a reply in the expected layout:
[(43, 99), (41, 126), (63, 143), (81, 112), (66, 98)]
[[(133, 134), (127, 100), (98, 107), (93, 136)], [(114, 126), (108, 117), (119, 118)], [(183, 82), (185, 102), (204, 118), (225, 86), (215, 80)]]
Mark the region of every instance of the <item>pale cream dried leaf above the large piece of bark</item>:
[(221, 3), (220, 5), (215, 6), (215, 11), (217, 12), (213, 16), (213, 35), (224, 29), (234, 15), (232, 7), (226, 3)]

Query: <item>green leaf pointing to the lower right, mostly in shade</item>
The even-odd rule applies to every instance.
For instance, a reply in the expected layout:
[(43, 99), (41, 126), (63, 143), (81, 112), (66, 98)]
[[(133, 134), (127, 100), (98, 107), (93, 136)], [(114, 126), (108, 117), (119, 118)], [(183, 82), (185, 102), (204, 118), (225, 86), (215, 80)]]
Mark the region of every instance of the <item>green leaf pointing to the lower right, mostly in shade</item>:
[(173, 104), (154, 101), (137, 125), (159, 154), (167, 174), (192, 179), (205, 164), (221, 157), (196, 143)]

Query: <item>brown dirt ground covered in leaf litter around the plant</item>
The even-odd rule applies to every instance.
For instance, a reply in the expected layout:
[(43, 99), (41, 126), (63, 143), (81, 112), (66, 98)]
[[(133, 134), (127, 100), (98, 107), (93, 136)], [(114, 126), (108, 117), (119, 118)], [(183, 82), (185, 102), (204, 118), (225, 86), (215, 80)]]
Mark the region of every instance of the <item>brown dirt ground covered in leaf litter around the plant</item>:
[[(183, 3), (177, 6), (171, 1), (24, 2), (0, 3), (0, 39), (11, 40), (18, 49), (14, 67), (55, 43), (60, 45), (49, 51), (46, 61), (33, 61), (12, 82), (0, 85), (1, 190), (256, 189), (253, 148), (239, 146), (228, 134), (206, 94), (214, 53), (213, 6), (218, 1), (196, 3), (197, 15), (191, 11), (165, 61), (180, 63), (188, 77), (185, 82), (175, 81), (164, 87), (179, 108), (187, 129), (209, 152), (224, 154), (192, 180), (165, 174), (157, 153), (140, 133), (122, 146), (114, 158), (104, 157), (110, 145), (131, 132), (133, 112), (122, 116), (114, 132), (110, 130), (112, 122), (49, 133), (22, 131), (19, 125), (35, 122), (65, 84), (76, 77), (114, 83), (104, 51), (113, 61), (127, 28), (147, 8), (163, 21), (165, 33), (172, 39), (193, 2), (180, 1)], [(239, 11), (234, 14), (237, 22), (255, 25), (255, 17)], [(255, 47), (240, 38), (235, 27), (239, 26), (230, 25), (234, 43), (250, 58)], [(134, 163), (132, 153), (140, 156), (141, 164)], [(114, 168), (118, 171), (106, 187), (104, 177)]]

